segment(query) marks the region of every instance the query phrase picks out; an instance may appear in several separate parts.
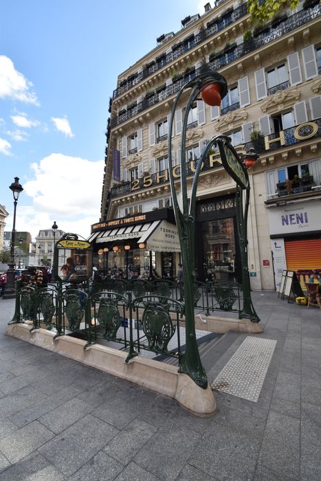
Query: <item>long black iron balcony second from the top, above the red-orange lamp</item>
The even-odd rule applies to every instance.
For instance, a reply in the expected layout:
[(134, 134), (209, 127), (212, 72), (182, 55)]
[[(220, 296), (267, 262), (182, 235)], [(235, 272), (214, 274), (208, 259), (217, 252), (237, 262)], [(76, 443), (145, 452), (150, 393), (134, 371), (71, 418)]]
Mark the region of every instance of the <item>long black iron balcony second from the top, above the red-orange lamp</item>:
[[(240, 45), (237, 45), (232, 50), (230, 50), (230, 52), (225, 52), (217, 56), (217, 58), (210, 61), (206, 65), (211, 70), (217, 71), (221, 67), (228, 65), (229, 63), (232, 63), (234, 60), (241, 58), (249, 54), (250, 52), (253, 52), (255, 49), (263, 47), (263, 45), (267, 45), (267, 43), (270, 43), (276, 40), (276, 38), (280, 38), (280, 36), (283, 36), (291, 32), (292, 30), (295, 30), (296, 28), (301, 27), (302, 25), (305, 25), (305, 23), (308, 23), (311, 20), (317, 19), (318, 16), (320, 16), (320, 14), (321, 14), (320, 3), (313, 8), (309, 8), (308, 10), (300, 10), (300, 12), (292, 16), (289, 16), (288, 19), (281, 22), (278, 25), (278, 27), (274, 29), (270, 29), (268, 32), (263, 32), (262, 34), (258, 35), (256, 38), (253, 38), (251, 42), (245, 42), (245, 43), (241, 43)], [(195, 75), (198, 75), (200, 73), (201, 73), (201, 69), (197, 69), (195, 71)], [(117, 117), (114, 117), (113, 119), (111, 119), (111, 128), (118, 126), (123, 122), (126, 122), (127, 120), (130, 120), (138, 113), (146, 109), (149, 109), (149, 107), (152, 107), (158, 102), (162, 102), (162, 100), (165, 100), (166, 98), (174, 95), (187, 82), (188, 82), (188, 79), (181, 78), (177, 82), (171, 85), (168, 85), (168, 87), (163, 89), (161, 92), (154, 93), (152, 95), (149, 95), (148, 98), (147, 97), (144, 98), (144, 100), (138, 103), (137, 106), (135, 106), (135, 108), (129, 111), (126, 111), (125, 113), (122, 113), (121, 115), (118, 115)]]

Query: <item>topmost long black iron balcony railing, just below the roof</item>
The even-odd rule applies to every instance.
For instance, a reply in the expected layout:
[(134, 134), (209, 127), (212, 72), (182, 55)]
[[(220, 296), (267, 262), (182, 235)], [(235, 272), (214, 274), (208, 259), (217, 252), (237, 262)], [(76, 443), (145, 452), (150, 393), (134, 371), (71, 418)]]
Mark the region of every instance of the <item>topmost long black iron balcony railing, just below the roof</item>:
[(230, 23), (235, 22), (236, 20), (240, 19), (242, 16), (245, 16), (246, 14), (247, 14), (247, 3), (243, 3), (243, 5), (240, 5), (233, 12), (231, 12), (230, 16), (225, 17), (223, 20), (221, 19), (220, 21), (214, 21), (215, 23), (212, 24), (210, 27), (206, 28), (206, 30), (203, 30), (202, 32), (199, 32), (199, 34), (195, 35), (194, 42), (190, 43), (189, 45), (183, 45), (183, 44), (177, 45), (177, 47), (172, 52), (169, 52), (165, 56), (162, 62), (160, 63), (155, 62), (153, 63), (153, 65), (149, 65), (148, 67), (146, 67), (146, 69), (144, 69), (139, 74), (137, 74), (137, 76), (131, 77), (128, 80), (126, 80), (124, 82), (124, 85), (120, 85), (120, 87), (118, 87), (113, 91), (113, 98), (117, 98), (118, 96), (122, 95), (122, 93), (125, 93), (126, 91), (131, 89), (131, 87), (133, 87), (134, 85), (137, 85), (137, 83), (155, 74), (155, 71), (162, 69), (165, 65), (168, 65), (168, 63), (172, 62), (176, 58), (188, 52), (188, 50), (199, 45), (199, 43), (206, 40), (206, 38), (209, 38), (212, 35), (219, 32), (220, 30), (223, 30), (223, 28), (230, 25)]

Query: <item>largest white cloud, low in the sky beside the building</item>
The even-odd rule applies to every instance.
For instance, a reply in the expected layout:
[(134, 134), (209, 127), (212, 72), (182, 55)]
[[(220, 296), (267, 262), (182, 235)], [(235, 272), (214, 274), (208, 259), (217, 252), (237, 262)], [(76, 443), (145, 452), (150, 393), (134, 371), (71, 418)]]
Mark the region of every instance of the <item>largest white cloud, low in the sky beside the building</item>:
[[(39, 230), (49, 229), (56, 221), (59, 229), (89, 236), (90, 226), (100, 217), (104, 161), (51, 154), (32, 164), (32, 179), (21, 182), (16, 229), (34, 238)], [(23, 198), (32, 197), (32, 205)], [(7, 219), (6, 230), (10, 230)]]

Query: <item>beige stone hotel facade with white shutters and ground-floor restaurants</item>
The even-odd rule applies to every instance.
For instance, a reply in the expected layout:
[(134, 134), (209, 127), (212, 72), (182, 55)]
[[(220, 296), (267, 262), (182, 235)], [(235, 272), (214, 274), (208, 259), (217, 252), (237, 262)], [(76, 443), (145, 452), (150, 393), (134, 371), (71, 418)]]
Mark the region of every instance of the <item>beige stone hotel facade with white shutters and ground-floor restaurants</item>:
[[(128, 264), (153, 265), (159, 275), (175, 277), (179, 247), (168, 168), (179, 192), (183, 161), (190, 186), (206, 140), (225, 134), (236, 150), (260, 153), (249, 170), (252, 288), (274, 289), (286, 267), (321, 269), (320, 13), (320, 3), (305, 1), (260, 26), (250, 20), (247, 3), (207, 3), (204, 14), (187, 16), (179, 32), (157, 38), (155, 49), (120, 74), (109, 105), (101, 216), (90, 237), (101, 268), (124, 267), (126, 260), (127, 271)], [(182, 100), (170, 167), (173, 102), (204, 66), (225, 76), (228, 95), (221, 108), (195, 102), (184, 159)], [(196, 222), (199, 280), (240, 280), (235, 185), (215, 150), (199, 177)], [(173, 236), (172, 250), (166, 234)]]

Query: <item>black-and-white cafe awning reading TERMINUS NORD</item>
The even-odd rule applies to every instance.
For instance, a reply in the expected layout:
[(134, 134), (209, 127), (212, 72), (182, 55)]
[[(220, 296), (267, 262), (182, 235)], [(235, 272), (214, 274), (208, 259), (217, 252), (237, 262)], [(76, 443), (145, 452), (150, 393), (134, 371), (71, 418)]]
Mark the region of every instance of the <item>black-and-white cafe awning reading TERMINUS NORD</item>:
[[(96, 234), (96, 235), (95, 235)], [(166, 220), (115, 227), (91, 234), (89, 242), (96, 244), (117, 243), (123, 240), (134, 240), (137, 244), (146, 243), (146, 249), (155, 252), (179, 252), (177, 227)]]

